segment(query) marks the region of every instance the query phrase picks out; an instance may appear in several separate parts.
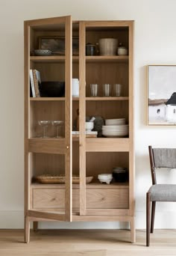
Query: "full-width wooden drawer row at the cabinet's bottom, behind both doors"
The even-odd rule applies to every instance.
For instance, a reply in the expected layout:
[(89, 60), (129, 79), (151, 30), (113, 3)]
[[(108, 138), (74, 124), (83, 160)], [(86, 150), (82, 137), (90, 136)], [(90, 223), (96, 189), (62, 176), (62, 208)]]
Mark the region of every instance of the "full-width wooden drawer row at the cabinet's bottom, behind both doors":
[[(128, 189), (87, 189), (87, 209), (128, 209)], [(31, 189), (32, 209), (64, 209), (64, 189)], [(72, 207), (79, 207), (79, 189), (73, 189)]]

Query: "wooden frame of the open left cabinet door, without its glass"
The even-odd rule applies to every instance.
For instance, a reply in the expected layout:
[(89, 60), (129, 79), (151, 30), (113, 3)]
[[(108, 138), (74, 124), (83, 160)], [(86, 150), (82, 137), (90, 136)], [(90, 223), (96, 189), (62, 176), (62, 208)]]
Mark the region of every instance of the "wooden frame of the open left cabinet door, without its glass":
[[(30, 29), (45, 25), (65, 25), (66, 56), (65, 56), (65, 213), (49, 213), (30, 209)], [(50, 153), (50, 152), (48, 152)], [(72, 17), (62, 16), (48, 19), (25, 21), (25, 216), (30, 219), (54, 219), (72, 222)]]

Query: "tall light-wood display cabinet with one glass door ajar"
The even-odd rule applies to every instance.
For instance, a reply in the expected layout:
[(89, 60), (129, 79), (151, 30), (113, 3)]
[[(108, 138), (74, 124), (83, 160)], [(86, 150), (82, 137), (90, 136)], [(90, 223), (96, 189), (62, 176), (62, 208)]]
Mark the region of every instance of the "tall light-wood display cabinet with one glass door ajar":
[[(65, 55), (35, 56), (40, 37), (65, 38)], [(72, 55), (72, 37), (79, 38), (79, 55)], [(100, 38), (117, 38), (128, 47), (128, 55), (86, 56), (86, 43)], [(65, 97), (30, 97), (29, 70), (40, 71), (42, 81), (65, 81)], [(80, 82), (79, 97), (72, 97), (72, 78)], [(89, 85), (99, 85), (98, 97), (90, 97)], [(122, 96), (103, 97), (104, 83), (123, 85)], [(77, 121), (78, 138), (72, 138)], [(87, 138), (86, 117), (125, 118), (129, 135), (125, 138)], [(63, 138), (40, 138), (39, 120), (62, 120)], [(129, 169), (129, 182), (101, 184), (100, 173), (114, 166)], [(66, 177), (64, 184), (35, 181), (41, 174)], [(80, 183), (72, 184), (77, 174)], [(92, 183), (86, 177), (92, 176)], [(71, 16), (25, 21), (25, 243), (29, 242), (30, 222), (130, 222), (134, 227), (133, 156), (133, 21), (78, 21)]]

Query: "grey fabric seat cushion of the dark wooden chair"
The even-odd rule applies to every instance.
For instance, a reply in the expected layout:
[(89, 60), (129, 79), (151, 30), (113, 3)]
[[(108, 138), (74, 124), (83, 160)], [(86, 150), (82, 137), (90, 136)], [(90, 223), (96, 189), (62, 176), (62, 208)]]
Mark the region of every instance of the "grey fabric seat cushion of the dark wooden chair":
[(175, 184), (157, 184), (150, 187), (151, 201), (176, 201)]

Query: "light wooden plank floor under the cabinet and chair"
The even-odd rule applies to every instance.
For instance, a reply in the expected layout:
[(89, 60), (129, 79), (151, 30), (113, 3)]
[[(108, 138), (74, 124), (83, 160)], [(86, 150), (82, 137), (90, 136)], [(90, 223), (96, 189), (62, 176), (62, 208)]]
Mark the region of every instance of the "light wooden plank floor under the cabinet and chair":
[(151, 246), (145, 246), (145, 231), (57, 230), (31, 231), (31, 242), (23, 242), (22, 230), (0, 230), (1, 256), (148, 256), (176, 255), (176, 230), (155, 230)]

